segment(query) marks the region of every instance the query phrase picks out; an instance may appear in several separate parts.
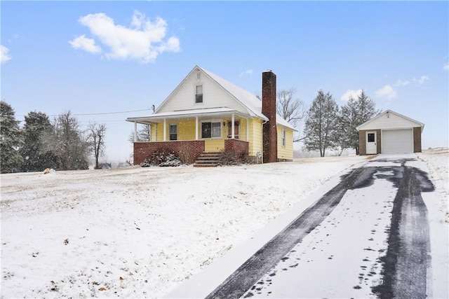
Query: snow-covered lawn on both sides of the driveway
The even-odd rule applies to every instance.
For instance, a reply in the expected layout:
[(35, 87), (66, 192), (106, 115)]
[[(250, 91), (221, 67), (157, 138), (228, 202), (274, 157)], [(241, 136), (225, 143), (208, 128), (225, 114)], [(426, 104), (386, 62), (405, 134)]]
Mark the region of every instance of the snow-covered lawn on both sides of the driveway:
[[(417, 154), (438, 195), (426, 201), (431, 241), (443, 246), (448, 153)], [(2, 174), (1, 295), (159, 298), (365, 160)]]

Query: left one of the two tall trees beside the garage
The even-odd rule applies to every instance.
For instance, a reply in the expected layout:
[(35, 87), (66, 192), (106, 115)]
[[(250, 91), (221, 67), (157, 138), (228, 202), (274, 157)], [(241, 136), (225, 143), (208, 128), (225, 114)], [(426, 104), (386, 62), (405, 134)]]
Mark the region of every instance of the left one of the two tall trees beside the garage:
[(309, 151), (319, 150), (321, 157), (326, 149), (333, 148), (337, 141), (338, 105), (330, 93), (319, 90), (312, 102), (304, 126), (304, 146)]

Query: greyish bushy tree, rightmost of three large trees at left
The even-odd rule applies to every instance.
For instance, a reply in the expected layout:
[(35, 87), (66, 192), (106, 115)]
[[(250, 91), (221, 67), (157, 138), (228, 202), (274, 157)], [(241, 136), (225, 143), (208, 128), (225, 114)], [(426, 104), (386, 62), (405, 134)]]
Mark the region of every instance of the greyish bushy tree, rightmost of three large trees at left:
[(53, 120), (53, 132), (47, 134), (45, 140), (46, 151), (58, 155), (59, 169), (88, 169), (89, 143), (70, 111)]

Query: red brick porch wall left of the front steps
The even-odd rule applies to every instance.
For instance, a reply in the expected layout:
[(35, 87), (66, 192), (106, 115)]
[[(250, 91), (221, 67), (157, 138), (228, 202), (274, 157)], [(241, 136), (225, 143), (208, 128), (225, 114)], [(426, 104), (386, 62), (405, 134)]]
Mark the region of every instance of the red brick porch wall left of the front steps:
[(147, 158), (148, 155), (168, 149), (173, 151), (177, 157), (181, 158), (185, 164), (193, 164), (196, 158), (204, 151), (203, 140), (192, 141), (154, 141), (154, 142), (135, 142), (134, 143), (134, 165), (140, 163)]

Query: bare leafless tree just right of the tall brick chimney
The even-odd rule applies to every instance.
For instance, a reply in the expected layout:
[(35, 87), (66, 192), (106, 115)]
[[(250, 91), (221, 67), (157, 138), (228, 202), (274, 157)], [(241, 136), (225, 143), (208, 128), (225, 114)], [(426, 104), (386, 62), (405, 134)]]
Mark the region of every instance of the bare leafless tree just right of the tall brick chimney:
[[(304, 119), (304, 102), (300, 99), (295, 99), (294, 95), (296, 88), (289, 90), (281, 90), (277, 95), (276, 112), (283, 119), (287, 120), (290, 125), (297, 127), (297, 124)], [(295, 137), (293, 142), (301, 141), (304, 138)]]

